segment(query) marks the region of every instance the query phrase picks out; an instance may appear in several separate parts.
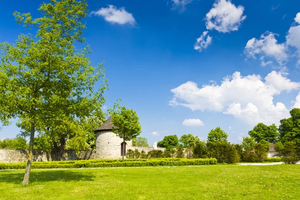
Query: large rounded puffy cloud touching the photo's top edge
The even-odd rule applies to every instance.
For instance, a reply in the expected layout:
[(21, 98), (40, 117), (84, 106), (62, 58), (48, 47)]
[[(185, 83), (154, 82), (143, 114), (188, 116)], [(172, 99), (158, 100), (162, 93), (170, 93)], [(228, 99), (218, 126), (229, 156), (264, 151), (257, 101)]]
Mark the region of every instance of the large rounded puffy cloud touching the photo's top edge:
[(219, 32), (237, 30), (246, 18), (243, 11), (242, 5), (236, 7), (230, 0), (216, 0), (209, 12), (206, 13), (206, 28), (216, 29)]

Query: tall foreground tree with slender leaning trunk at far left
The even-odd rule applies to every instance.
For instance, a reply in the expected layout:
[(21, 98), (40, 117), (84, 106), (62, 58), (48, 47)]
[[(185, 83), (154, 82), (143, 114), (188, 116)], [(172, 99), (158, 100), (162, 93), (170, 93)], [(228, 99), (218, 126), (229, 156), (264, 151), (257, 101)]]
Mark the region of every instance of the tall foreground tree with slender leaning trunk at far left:
[[(102, 63), (93, 66), (76, 42), (85, 41), (82, 31), (87, 16), (85, 0), (50, 0), (42, 3), (40, 17), (14, 12), (18, 24), (36, 34), (20, 34), (16, 43), (0, 43), (0, 117), (28, 120), (30, 140), (23, 184), (28, 184), (36, 127), (64, 129), (75, 119), (100, 112), (107, 83)], [(103, 78), (95, 88), (94, 83)], [(68, 127), (67, 127), (68, 126)], [(55, 125), (58, 129), (58, 125)]]

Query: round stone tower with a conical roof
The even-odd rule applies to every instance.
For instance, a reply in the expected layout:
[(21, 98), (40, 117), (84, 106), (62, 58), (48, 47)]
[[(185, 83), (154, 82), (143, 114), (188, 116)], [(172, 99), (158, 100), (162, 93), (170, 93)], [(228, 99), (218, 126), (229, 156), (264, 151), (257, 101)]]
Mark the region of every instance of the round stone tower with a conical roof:
[[(120, 158), (123, 139), (112, 132), (111, 116), (96, 130), (96, 158)], [(132, 142), (126, 141), (126, 149), (131, 148)]]

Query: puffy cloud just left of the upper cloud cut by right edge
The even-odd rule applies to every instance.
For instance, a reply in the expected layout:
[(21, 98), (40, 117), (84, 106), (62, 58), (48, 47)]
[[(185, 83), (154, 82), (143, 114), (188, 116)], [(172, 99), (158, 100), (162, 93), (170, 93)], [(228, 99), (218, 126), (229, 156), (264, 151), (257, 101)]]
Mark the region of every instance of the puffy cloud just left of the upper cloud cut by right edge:
[(285, 43), (278, 43), (275, 35), (272, 32), (265, 32), (260, 35), (260, 39), (253, 37), (246, 43), (244, 54), (247, 57), (256, 58), (260, 56), (262, 66), (270, 64), (271, 61), (264, 62), (264, 55), (274, 58), (279, 64), (282, 64), (287, 59)]

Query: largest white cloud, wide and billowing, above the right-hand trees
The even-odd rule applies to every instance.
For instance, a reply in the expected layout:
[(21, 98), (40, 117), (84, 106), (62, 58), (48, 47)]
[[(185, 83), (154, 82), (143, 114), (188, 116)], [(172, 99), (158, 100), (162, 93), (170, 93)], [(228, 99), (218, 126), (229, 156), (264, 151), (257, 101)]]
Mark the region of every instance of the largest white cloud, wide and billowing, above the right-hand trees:
[(298, 88), (300, 82), (293, 82), (280, 72), (272, 71), (263, 80), (260, 75), (241, 76), (236, 71), (219, 85), (213, 83), (199, 88), (192, 81), (183, 83), (171, 89), (174, 95), (169, 104), (232, 114), (249, 124), (270, 124), (289, 116), (283, 103), (273, 103), (273, 96)]

